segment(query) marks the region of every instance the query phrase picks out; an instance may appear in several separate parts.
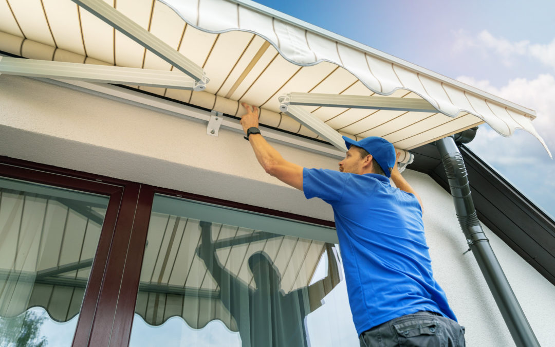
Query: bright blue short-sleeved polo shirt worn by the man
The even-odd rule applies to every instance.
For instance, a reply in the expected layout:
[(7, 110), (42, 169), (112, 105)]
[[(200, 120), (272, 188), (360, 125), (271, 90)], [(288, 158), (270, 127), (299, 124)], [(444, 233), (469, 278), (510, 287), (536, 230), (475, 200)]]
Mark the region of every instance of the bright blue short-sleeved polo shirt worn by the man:
[(307, 199), (334, 209), (349, 304), (360, 335), (388, 320), (432, 311), (457, 320), (432, 276), (422, 210), (415, 195), (379, 174), (302, 171)]

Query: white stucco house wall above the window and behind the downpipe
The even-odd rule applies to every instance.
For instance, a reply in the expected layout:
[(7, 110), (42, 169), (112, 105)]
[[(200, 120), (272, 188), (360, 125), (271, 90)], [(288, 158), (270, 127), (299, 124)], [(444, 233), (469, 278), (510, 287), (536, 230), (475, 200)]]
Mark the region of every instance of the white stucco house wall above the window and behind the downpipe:
[[(233, 131), (210, 137), (206, 124), (87, 93), (0, 76), (0, 154), (184, 192), (331, 219), (321, 200), (270, 177)], [(275, 144), (306, 167), (337, 168), (334, 158)], [(406, 172), (425, 206), (435, 277), (468, 346), (511, 346), (511, 336), (455, 217), (450, 194), (425, 174)], [(539, 342), (555, 344), (555, 286), (486, 229)], [(347, 305), (345, 303), (345, 305)]]

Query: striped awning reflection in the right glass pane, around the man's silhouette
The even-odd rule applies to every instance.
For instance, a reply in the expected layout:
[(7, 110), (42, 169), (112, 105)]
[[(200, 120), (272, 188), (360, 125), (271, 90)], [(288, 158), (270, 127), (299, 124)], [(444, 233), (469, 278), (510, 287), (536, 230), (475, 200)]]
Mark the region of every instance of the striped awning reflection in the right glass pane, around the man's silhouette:
[[(260, 290), (249, 260), (253, 255), (263, 255), (275, 270), (279, 278), (276, 294), (280, 298), (302, 294), (304, 304), (296, 299), (294, 302), (300, 301), (292, 307), (308, 313), (321, 305), (320, 300), (341, 277), (332, 245), (308, 238), (329, 238), (328, 232), (335, 235), (332, 228), (157, 194), (135, 313), (150, 325), (178, 316), (193, 329), (220, 320), (230, 331), (239, 331), (246, 323), (240, 322), (234, 305), (253, 309), (249, 307), (249, 293)], [(212, 260), (201, 257), (203, 242), (205, 249), (209, 247), (209, 253), (214, 253), (213, 261), (219, 264), (224, 279), (207, 263)], [(328, 270), (333, 270), (333, 279), (315, 275), (322, 257), (332, 259)], [(229, 283), (244, 289), (239, 295), (242, 299), (236, 299), (231, 307), (233, 289)]]

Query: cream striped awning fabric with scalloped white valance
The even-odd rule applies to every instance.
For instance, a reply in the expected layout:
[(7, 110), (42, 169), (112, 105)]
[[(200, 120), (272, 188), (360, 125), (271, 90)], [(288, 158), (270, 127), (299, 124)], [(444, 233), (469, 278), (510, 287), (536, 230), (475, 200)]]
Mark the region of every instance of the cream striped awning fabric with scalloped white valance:
[[(108, 3), (116, 12), (92, 14), (76, 3), (89, 10)], [(206, 82), (205, 89), (138, 88), (237, 116), (240, 102), (254, 104), (261, 123), (314, 138), (322, 132), (303, 117), (352, 138), (381, 136), (400, 149), (488, 123), (504, 136), (524, 129), (549, 152), (532, 126), (533, 110), (248, 0), (0, 0), (0, 50), (173, 71)], [(284, 113), (279, 98), (289, 93), (356, 95), (377, 106), (295, 105)], [(430, 107), (387, 108), (384, 98)]]

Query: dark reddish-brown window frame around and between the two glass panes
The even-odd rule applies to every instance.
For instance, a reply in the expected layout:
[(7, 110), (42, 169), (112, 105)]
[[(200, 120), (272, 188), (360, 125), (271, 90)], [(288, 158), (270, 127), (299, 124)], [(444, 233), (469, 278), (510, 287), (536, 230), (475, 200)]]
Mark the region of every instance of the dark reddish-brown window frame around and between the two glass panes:
[(154, 194), (335, 227), (329, 220), (0, 156), (3, 177), (108, 195), (73, 346), (127, 346)]

